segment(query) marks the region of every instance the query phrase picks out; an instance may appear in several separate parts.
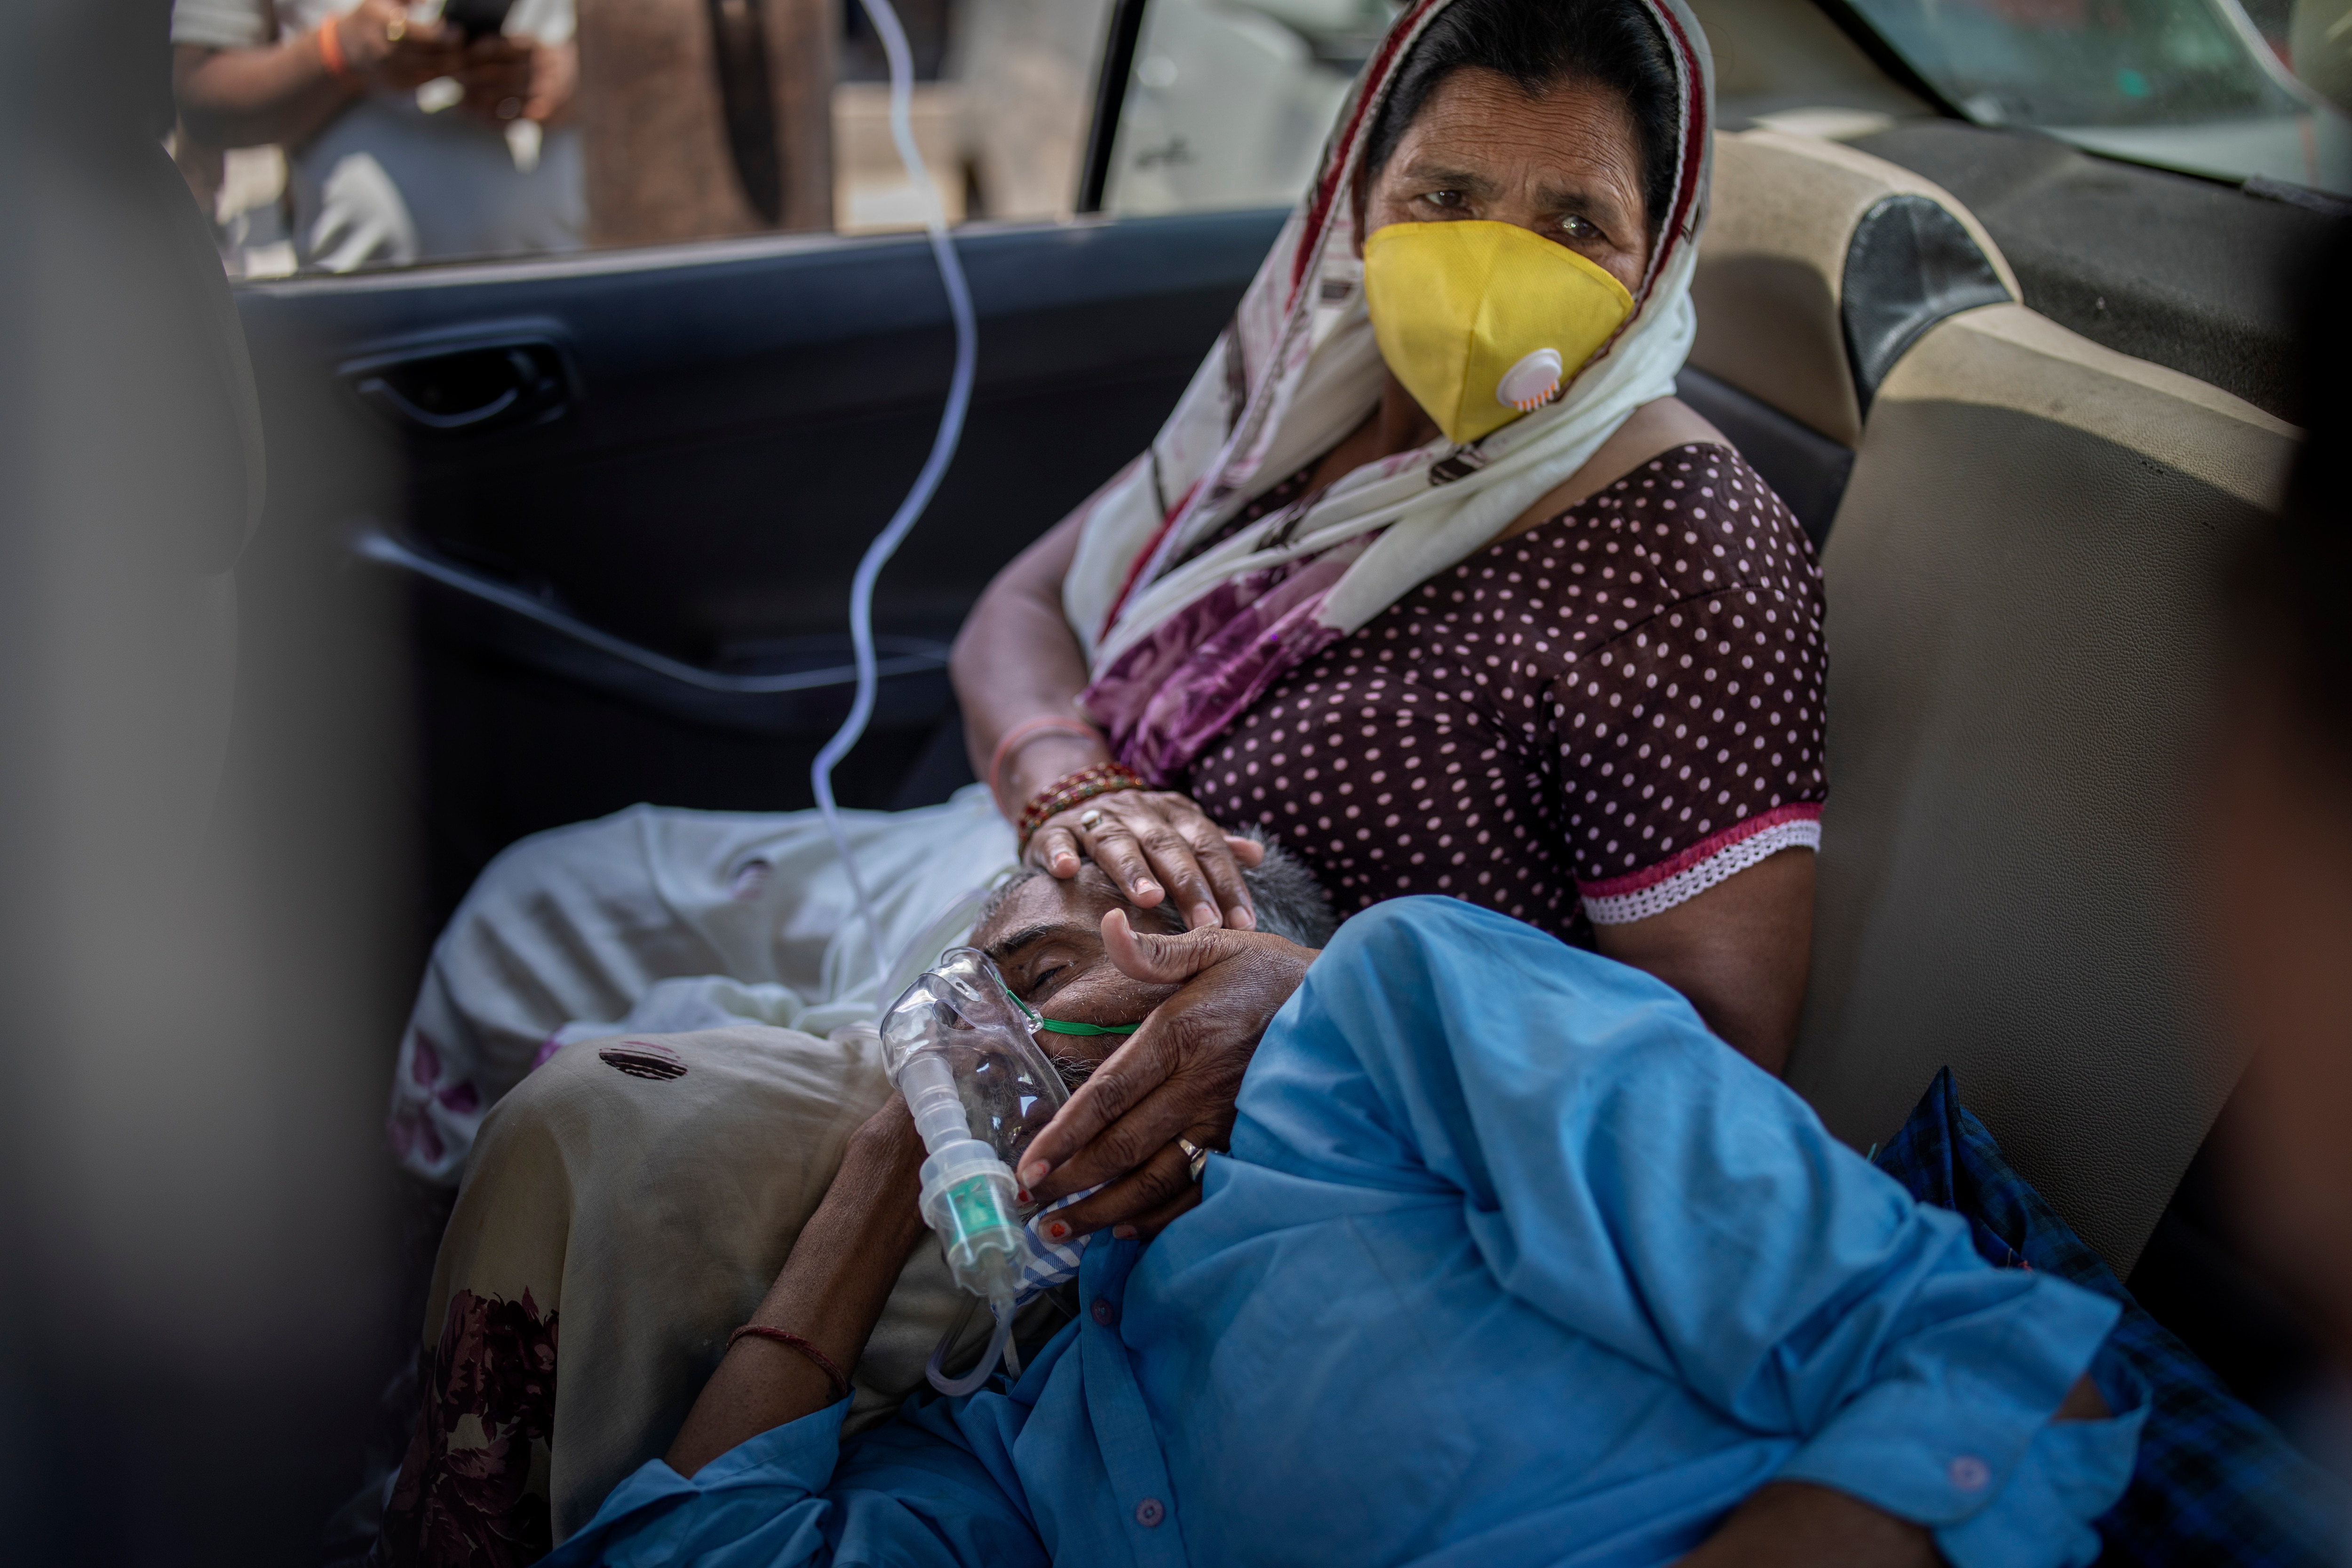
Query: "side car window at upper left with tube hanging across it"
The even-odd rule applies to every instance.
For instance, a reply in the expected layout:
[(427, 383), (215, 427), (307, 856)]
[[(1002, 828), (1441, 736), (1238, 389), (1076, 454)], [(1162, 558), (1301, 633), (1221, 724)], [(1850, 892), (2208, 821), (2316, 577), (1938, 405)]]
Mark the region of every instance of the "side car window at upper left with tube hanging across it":
[[(1068, 216), (1110, 0), (896, 9), (948, 219)], [(174, 0), (172, 42), (238, 277), (922, 223), (856, 0)]]

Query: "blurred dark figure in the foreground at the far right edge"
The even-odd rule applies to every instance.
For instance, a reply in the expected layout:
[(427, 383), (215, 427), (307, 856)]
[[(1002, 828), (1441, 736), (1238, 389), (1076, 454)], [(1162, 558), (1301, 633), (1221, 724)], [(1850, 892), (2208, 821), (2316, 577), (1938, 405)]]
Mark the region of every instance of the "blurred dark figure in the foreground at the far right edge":
[(2352, 223), (2312, 270), (2305, 447), (2237, 581), (2232, 701), (2216, 745), (2209, 879), (2223, 1001), (2251, 1065), (2239, 1201), (2352, 1368)]

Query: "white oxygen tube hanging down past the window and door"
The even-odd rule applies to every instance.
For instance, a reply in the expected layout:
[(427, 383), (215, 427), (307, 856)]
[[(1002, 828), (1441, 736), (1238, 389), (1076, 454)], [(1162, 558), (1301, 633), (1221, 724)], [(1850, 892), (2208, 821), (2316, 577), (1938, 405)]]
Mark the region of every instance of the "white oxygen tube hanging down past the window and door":
[[(882, 919), (875, 914), (873, 896), (866, 891), (866, 877), (858, 875), (858, 858), (849, 849), (849, 835), (842, 832), (840, 806), (833, 804), (833, 769), (840, 766), (849, 748), (866, 733), (868, 719), (873, 719), (877, 679), (873, 628), (875, 578), (882, 576), (882, 567), (896, 555), (915, 520), (922, 517), (922, 508), (931, 503), (931, 494), (948, 473), (948, 461), (955, 458), (957, 442), (964, 440), (964, 411), (971, 407), (971, 371), (981, 353), (981, 329), (971, 315), (971, 289), (964, 287), (964, 266), (957, 261), (955, 242), (948, 237), (948, 214), (938, 205), (938, 188), (922, 167), (922, 150), (915, 146), (915, 120), (910, 113), (915, 101), (915, 56), (906, 47), (906, 28), (898, 26), (898, 12), (891, 9), (889, 0), (858, 2), (875, 24), (875, 33), (882, 38), (882, 54), (889, 59), (889, 136), (898, 146), (898, 162), (906, 165), (906, 176), (915, 183), (915, 200), (922, 202), (922, 226), (931, 240), (931, 259), (938, 261), (938, 282), (948, 289), (948, 313), (955, 317), (955, 374), (948, 378), (948, 407), (938, 414), (938, 435), (931, 440), (931, 456), (924, 458), (922, 473), (915, 475), (915, 487), (898, 503), (898, 512), (889, 520), (889, 527), (866, 545), (866, 557), (858, 562), (858, 574), (849, 585), (849, 646), (856, 651), (858, 693), (849, 703), (849, 717), (842, 722), (842, 729), (826, 741), (826, 750), (816, 752), (816, 762), (809, 766), (809, 783), (816, 788), (816, 809), (826, 813), (833, 849), (842, 856), (842, 870), (849, 872), (849, 891), (858, 900), (858, 914), (866, 919), (866, 936), (875, 954), (875, 983), (887, 985), (889, 952), (882, 947)], [(887, 1006), (889, 994), (877, 994), (877, 1004)]]

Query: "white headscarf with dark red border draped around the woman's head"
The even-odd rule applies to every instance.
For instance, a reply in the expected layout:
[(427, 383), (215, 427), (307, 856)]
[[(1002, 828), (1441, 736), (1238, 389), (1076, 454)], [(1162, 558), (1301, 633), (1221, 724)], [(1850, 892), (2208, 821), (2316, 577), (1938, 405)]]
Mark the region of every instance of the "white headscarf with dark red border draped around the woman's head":
[(1618, 336), (1559, 402), (1486, 440), (1454, 447), (1439, 437), (1369, 463), (1331, 484), (1296, 522), (1244, 529), (1167, 569), (1254, 496), (1338, 444), (1381, 397), (1381, 350), (1364, 313), (1348, 193), (1397, 68), (1446, 2), (1416, 0), (1395, 21), (1341, 108), (1315, 186), (1284, 223), (1232, 324), (1150, 451), (1084, 503), (1063, 609), (1091, 670), (1101, 672), (1218, 583), (1381, 529), (1315, 616), (1352, 632), (1414, 585), (1494, 543), (1503, 524), (1583, 468), (1628, 414), (1675, 393), (1696, 329), (1689, 289), (1712, 162), (1715, 68), (1682, 0), (1649, 0), (1682, 87), (1677, 197), (1635, 315)]

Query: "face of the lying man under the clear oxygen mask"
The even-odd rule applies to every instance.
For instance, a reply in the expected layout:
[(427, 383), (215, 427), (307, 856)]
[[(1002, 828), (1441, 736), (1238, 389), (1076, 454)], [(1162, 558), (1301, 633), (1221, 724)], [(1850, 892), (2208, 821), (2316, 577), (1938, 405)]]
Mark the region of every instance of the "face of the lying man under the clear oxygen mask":
[[(1089, 860), (1068, 882), (1030, 877), (971, 933), (971, 945), (995, 959), (1016, 997), (1047, 1018), (1070, 1023), (1143, 1023), (1176, 985), (1134, 980), (1103, 950), (1103, 914), (1124, 910), (1136, 931), (1181, 933), (1181, 917), (1138, 910)], [(1122, 1034), (1049, 1034), (1056, 1056), (1091, 1067), (1124, 1039)]]

